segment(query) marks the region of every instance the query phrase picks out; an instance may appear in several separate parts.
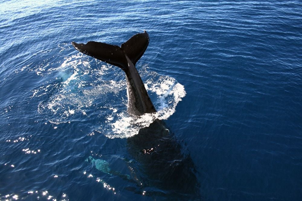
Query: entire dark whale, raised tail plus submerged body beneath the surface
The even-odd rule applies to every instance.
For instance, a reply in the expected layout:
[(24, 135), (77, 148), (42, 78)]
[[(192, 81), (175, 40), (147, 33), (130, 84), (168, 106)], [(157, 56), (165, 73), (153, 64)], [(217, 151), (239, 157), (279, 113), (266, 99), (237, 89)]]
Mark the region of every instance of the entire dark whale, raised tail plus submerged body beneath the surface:
[[(95, 41), (86, 44), (72, 42), (78, 51), (125, 72), (127, 112), (135, 116), (156, 112), (135, 67), (148, 44), (146, 31), (135, 34), (120, 47)], [(163, 121), (156, 119), (149, 127), (140, 129), (138, 134), (127, 138), (127, 145), (129, 154), (138, 166), (138, 172), (131, 174), (132, 180), (137, 183), (137, 188), (132, 191), (144, 192), (144, 195), (151, 197), (199, 200), (194, 163)]]

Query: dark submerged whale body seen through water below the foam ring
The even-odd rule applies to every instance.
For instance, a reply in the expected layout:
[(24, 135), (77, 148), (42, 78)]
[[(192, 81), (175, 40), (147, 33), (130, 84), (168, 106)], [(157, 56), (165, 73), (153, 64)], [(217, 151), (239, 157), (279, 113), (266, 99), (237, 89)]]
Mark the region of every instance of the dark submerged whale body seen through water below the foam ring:
[(186, 150), (156, 120), (127, 139), (128, 152), (137, 163), (132, 177), (147, 196), (165, 200), (200, 200), (196, 168)]

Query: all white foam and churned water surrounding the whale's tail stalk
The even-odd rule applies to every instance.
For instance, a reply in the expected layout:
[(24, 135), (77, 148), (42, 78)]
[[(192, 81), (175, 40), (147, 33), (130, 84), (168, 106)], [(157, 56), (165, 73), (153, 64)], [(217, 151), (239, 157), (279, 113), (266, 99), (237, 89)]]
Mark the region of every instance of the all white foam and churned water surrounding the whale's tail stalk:
[[(31, 98), (42, 99), (38, 112), (51, 123), (61, 124), (73, 118), (86, 119), (97, 113), (94, 129), (108, 138), (127, 138), (148, 127), (155, 119), (167, 119), (186, 95), (184, 86), (172, 77), (147, 71), (138, 66), (156, 113), (130, 116), (127, 113), (127, 94), (124, 72), (112, 65), (91, 58), (73, 55), (58, 66), (38, 67), (37, 74), (53, 72), (58, 76), (32, 91)], [(46, 64), (47, 65), (47, 64)], [(47, 65), (48, 66), (48, 65)]]

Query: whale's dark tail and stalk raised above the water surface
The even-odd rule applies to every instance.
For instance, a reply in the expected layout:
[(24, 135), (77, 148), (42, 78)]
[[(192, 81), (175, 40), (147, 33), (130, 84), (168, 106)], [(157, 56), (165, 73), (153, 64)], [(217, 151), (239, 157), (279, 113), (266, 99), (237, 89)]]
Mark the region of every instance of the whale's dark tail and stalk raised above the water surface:
[(140, 74), (135, 68), (135, 64), (144, 54), (148, 44), (149, 35), (146, 31), (135, 34), (120, 47), (95, 41), (89, 41), (86, 44), (72, 42), (78, 51), (117, 66), (125, 72), (128, 97), (127, 112), (136, 116), (156, 112)]

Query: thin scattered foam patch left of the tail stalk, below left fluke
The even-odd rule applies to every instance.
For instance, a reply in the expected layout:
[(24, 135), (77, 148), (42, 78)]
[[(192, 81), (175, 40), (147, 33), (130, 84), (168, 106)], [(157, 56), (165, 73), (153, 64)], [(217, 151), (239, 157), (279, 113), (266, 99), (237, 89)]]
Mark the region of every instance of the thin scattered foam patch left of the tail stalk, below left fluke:
[(87, 110), (91, 110), (98, 100), (108, 102), (105, 99), (108, 94), (119, 93), (126, 87), (123, 80), (101, 78), (104, 71), (110, 74), (112, 66), (101, 65), (99, 69), (92, 69), (90, 62), (82, 61), (78, 55), (67, 57), (58, 67), (46, 71), (54, 72), (58, 77), (33, 90), (31, 98), (44, 99), (38, 105), (38, 112), (51, 123), (66, 123), (79, 114), (87, 116)]

